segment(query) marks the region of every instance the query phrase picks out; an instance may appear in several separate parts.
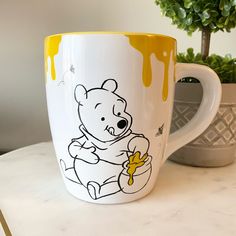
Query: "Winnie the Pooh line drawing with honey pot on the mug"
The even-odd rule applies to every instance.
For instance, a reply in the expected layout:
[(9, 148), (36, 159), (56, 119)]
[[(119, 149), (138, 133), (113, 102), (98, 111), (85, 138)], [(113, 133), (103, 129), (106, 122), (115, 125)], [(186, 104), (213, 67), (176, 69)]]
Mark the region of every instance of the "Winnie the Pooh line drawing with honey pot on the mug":
[(152, 172), (150, 142), (132, 132), (133, 118), (117, 88), (114, 79), (107, 79), (101, 87), (87, 90), (79, 84), (74, 90), (83, 135), (68, 146), (73, 166), (63, 159), (60, 164), (65, 178), (83, 185), (94, 200), (120, 191), (137, 193)]

